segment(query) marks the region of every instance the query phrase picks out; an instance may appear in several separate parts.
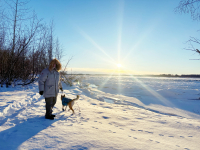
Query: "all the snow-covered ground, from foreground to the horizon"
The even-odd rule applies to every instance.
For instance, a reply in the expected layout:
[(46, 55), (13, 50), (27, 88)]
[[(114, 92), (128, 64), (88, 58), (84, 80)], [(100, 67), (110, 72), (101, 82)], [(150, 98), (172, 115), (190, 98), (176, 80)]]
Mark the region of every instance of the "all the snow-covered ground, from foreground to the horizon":
[(0, 149), (199, 149), (200, 79), (88, 76), (63, 89), (80, 95), (76, 114), (59, 93), (47, 120), (37, 83), (0, 88)]

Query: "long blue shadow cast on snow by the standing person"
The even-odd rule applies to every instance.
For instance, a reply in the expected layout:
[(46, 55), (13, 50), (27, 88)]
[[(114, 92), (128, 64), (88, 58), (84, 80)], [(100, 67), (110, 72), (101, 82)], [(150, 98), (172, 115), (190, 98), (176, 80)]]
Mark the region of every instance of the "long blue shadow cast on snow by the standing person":
[(0, 132), (0, 149), (20, 149), (20, 145), (25, 141), (30, 140), (31, 137), (50, 127), (56, 121), (58, 120), (48, 120), (44, 116), (38, 116), (4, 130)]

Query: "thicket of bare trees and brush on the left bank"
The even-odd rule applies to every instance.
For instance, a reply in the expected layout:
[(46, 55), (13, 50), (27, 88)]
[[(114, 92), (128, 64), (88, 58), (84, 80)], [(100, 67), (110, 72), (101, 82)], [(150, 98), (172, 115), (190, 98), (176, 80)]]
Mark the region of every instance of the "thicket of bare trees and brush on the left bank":
[(43, 23), (26, 6), (27, 1), (0, 0), (1, 87), (34, 82), (50, 59), (62, 56), (53, 21)]

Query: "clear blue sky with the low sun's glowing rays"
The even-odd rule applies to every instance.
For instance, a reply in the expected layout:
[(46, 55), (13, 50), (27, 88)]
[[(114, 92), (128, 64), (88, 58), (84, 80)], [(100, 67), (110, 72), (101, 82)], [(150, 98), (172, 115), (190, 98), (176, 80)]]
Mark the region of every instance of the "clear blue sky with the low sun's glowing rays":
[[(54, 20), (73, 73), (200, 74), (198, 54), (184, 50), (199, 22), (176, 14), (180, 0), (31, 0), (46, 23)], [(121, 68), (117, 64), (122, 65)]]

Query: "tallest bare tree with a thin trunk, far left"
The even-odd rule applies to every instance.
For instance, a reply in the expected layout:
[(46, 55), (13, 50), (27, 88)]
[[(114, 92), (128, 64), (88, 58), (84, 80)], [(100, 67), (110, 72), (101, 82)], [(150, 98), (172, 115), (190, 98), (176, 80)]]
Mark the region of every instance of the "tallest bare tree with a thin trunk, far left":
[[(41, 20), (37, 19), (37, 16), (33, 13), (31, 17), (25, 16), (28, 9), (25, 8), (27, 1), (5, 1), (9, 6), (10, 12), (5, 12), (4, 17), (9, 26), (8, 32), (10, 36), (8, 37), (8, 41), (10, 41), (10, 47), (7, 48), (9, 51), (9, 57), (7, 58), (8, 68), (6, 69), (6, 73), (4, 73), (2, 79), (8, 85), (13, 81), (13, 79), (17, 78), (16, 74), (18, 64), (22, 65), (20, 71), (24, 73), (26, 76), (25, 64), (27, 63), (26, 54), (29, 51), (29, 46), (33, 42), (34, 37), (39, 32), (41, 27)], [(12, 41), (12, 42), (11, 42)], [(23, 62), (21, 64), (21, 62)]]

